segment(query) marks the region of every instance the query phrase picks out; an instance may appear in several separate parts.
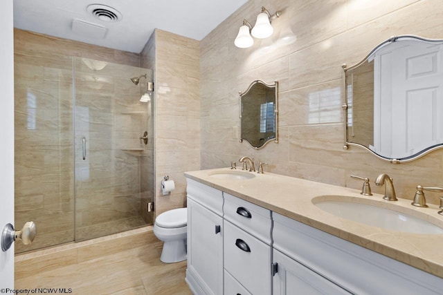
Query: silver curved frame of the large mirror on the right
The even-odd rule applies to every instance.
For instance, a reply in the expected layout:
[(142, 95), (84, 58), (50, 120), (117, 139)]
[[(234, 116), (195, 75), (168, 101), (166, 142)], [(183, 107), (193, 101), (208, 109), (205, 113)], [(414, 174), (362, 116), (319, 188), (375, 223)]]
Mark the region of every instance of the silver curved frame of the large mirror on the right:
[(379, 48), (385, 46), (386, 44), (390, 44), (392, 42), (397, 41), (398, 39), (417, 39), (417, 40), (421, 40), (421, 41), (426, 41), (426, 42), (435, 42), (435, 43), (443, 43), (443, 39), (428, 39), (428, 38), (424, 38), (424, 37), (419, 37), (416, 35), (399, 35), (399, 36), (393, 36), (390, 37), (389, 39), (381, 42), (379, 45), (377, 45), (374, 49), (372, 49), (370, 51), (370, 53), (368, 53), (368, 55), (366, 55), (363, 59), (361, 59), (361, 61), (359, 61), (357, 64), (354, 64), (353, 66), (347, 67), (346, 64), (343, 64), (341, 67), (343, 68), (343, 111), (344, 111), (344, 122), (345, 122), (345, 145), (343, 146), (344, 150), (349, 149), (349, 146), (359, 146), (362, 149), (365, 149), (366, 151), (370, 152), (372, 155), (375, 155), (377, 158), (379, 158), (380, 160), (386, 161), (386, 162), (390, 162), (392, 164), (400, 164), (400, 163), (406, 163), (406, 162), (411, 162), (413, 160), (417, 160), (418, 158), (422, 158), (424, 155), (427, 155), (428, 153), (431, 153), (432, 151), (435, 151), (437, 149), (443, 149), (443, 144), (437, 144), (434, 146), (429, 146), (427, 149), (424, 149), (422, 151), (419, 151), (418, 153), (415, 153), (414, 155), (410, 155), (408, 157), (405, 158), (399, 158), (399, 159), (395, 159), (395, 158), (388, 158), (388, 157), (383, 157), (382, 155), (379, 155), (377, 153), (375, 153), (374, 151), (372, 151), (371, 149), (369, 149), (367, 146), (364, 146), (363, 144), (359, 144), (356, 142), (350, 142), (347, 135), (348, 135), (348, 120), (347, 120), (347, 84), (346, 84), (346, 73), (348, 70), (353, 70), (354, 68), (357, 68), (359, 66), (361, 66), (361, 64), (365, 63), (365, 61), (368, 60), (368, 57), (370, 57), (375, 51), (377, 51)]

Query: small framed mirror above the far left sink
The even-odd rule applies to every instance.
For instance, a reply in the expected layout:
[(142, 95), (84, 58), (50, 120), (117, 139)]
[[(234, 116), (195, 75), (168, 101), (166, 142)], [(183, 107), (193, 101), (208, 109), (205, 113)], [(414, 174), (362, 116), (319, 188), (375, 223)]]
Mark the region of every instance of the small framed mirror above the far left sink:
[(255, 80), (239, 92), (240, 142), (246, 140), (253, 149), (278, 142), (278, 82), (266, 84)]

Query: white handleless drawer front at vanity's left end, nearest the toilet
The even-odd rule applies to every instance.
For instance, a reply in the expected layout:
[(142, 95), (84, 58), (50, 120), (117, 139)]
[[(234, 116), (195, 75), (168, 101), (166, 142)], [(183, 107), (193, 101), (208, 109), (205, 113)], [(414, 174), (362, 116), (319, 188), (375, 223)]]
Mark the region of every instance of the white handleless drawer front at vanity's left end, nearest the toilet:
[(217, 215), (223, 216), (223, 193), (221, 191), (189, 178), (186, 178), (186, 182), (188, 183), (186, 187), (188, 198), (195, 200)]

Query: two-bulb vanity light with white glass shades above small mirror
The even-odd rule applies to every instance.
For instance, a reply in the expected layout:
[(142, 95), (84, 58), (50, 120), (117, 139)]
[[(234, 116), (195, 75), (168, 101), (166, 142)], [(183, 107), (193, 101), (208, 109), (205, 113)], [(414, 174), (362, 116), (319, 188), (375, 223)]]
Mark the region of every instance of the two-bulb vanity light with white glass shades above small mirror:
[(282, 12), (278, 10), (275, 14), (271, 15), (269, 11), (262, 6), (262, 11), (257, 15), (257, 21), (255, 21), (255, 26), (252, 28), (251, 23), (243, 20), (243, 25), (239, 28), (237, 38), (235, 38), (234, 44), (238, 48), (248, 48), (253, 46), (254, 39), (251, 37), (249, 32), (253, 37), (257, 39), (264, 39), (270, 37), (274, 31), (271, 26), (271, 21), (280, 17)]

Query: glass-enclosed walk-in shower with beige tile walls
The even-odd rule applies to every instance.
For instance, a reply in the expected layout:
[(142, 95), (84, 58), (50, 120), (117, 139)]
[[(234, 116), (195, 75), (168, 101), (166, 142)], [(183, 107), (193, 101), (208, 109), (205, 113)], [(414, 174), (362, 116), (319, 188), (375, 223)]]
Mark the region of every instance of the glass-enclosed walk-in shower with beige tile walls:
[(37, 226), (16, 253), (152, 224), (148, 82), (147, 68), (16, 50), (15, 225)]

